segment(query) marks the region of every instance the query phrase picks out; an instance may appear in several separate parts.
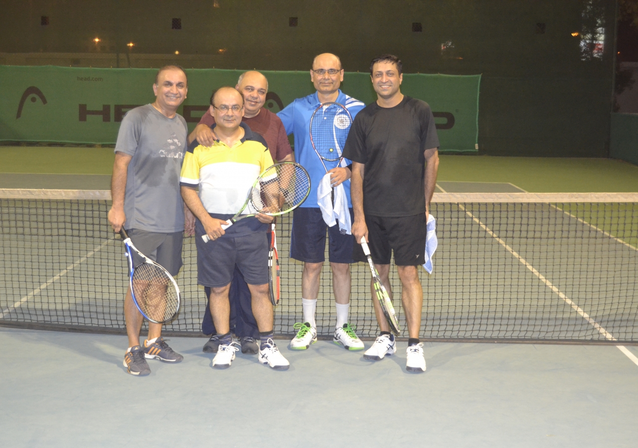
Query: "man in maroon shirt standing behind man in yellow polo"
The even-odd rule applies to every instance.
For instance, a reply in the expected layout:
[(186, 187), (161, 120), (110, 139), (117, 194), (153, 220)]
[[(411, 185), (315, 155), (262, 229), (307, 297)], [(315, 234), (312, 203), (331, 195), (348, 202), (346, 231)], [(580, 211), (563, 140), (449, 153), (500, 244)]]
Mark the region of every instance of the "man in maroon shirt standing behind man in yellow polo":
[[(292, 149), (288, 142), (286, 129), (279, 117), (271, 111), (263, 108), (268, 92), (268, 80), (258, 71), (246, 71), (239, 76), (235, 89), (244, 96), (244, 117), (242, 122), (250, 127), (251, 131), (261, 134), (268, 143), (272, 159), (276, 162), (294, 161)], [(206, 111), (199, 124), (188, 136), (188, 143), (197, 139), (205, 146), (211, 146), (216, 140), (211, 126), (215, 123), (212, 116), (212, 106)], [(211, 295), (209, 288), (205, 288), (206, 296)], [(253, 316), (251, 307), (251, 295), (248, 285), (241, 271), (235, 266), (233, 281), (228, 291), (230, 298), (230, 321), (234, 326), (234, 333), (241, 342), (242, 353), (256, 354), (258, 352), (259, 329)], [(205, 343), (204, 352), (214, 353), (218, 351), (219, 339), (212, 323), (211, 310), (206, 307), (202, 331), (205, 335), (212, 333), (211, 339)]]

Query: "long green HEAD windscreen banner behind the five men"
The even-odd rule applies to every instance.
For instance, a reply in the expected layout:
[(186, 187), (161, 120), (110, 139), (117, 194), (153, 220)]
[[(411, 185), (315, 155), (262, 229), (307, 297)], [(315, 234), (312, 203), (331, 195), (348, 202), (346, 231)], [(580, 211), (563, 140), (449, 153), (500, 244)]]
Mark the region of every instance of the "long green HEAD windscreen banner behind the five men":
[[(0, 140), (115, 143), (124, 114), (154, 101), (157, 69), (0, 66)], [(234, 86), (241, 70), (187, 69), (188, 98), (177, 111), (193, 129), (211, 92)], [(279, 112), (315, 91), (308, 71), (262, 71), (265, 107)], [(426, 101), (441, 151), (478, 148), (480, 75), (404, 74), (401, 91)], [(366, 104), (376, 99), (368, 73), (345, 73), (341, 90)]]

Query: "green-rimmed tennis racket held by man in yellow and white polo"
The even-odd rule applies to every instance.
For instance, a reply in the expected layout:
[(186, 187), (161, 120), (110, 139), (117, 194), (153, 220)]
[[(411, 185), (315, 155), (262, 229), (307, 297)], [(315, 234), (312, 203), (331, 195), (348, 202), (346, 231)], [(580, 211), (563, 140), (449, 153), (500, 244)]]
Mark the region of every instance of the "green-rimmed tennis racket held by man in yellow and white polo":
[[(263, 213), (269, 216), (279, 216), (300, 206), (310, 193), (310, 176), (308, 171), (298, 163), (276, 163), (266, 168), (259, 175), (255, 184), (248, 192), (246, 202), (235, 216), (222, 224), (227, 229), (240, 219)], [(242, 215), (248, 205), (249, 213)], [(202, 235), (205, 243), (209, 242), (208, 235)]]

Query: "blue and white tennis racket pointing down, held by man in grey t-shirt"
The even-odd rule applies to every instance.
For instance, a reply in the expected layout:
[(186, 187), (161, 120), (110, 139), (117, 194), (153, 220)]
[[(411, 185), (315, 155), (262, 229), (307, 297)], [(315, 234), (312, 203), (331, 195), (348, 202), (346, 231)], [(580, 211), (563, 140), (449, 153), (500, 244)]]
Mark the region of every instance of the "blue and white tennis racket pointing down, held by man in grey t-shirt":
[[(140, 313), (151, 322), (164, 324), (171, 321), (179, 310), (179, 287), (175, 279), (162, 266), (137, 250), (122, 228), (120, 236), (124, 242), (133, 303)], [(144, 263), (133, 267), (133, 253), (144, 259)]]

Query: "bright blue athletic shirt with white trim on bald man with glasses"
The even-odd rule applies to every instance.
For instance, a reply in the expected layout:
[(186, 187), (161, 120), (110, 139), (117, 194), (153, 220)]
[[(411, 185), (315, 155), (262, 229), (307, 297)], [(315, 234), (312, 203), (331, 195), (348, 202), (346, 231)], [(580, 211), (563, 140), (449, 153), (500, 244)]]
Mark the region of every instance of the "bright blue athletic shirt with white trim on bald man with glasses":
[[(352, 115), (352, 119), (355, 115), (362, 110), (366, 105), (354, 99), (339, 90), (339, 96), (335, 103), (345, 106)], [(317, 92), (308, 95), (304, 98), (297, 98), (290, 103), (281, 112), (277, 114), (283, 126), (286, 128), (286, 134), (295, 134), (295, 161), (308, 170), (310, 175), (311, 191), (308, 195), (308, 199), (300, 206), (302, 207), (314, 207), (318, 208), (317, 204), (317, 186), (325, 176), (325, 170), (323, 164), (313, 149), (313, 144), (310, 141), (310, 119), (313, 116), (316, 108), (321, 105)], [(348, 166), (350, 160), (343, 159), (341, 166)], [(325, 167), (328, 170), (336, 168), (337, 162), (326, 162)], [(348, 207), (352, 207), (352, 201), (350, 201), (350, 180), (343, 182), (343, 187), (346, 190), (346, 197), (348, 198)]]

